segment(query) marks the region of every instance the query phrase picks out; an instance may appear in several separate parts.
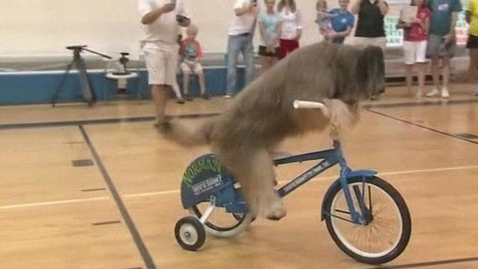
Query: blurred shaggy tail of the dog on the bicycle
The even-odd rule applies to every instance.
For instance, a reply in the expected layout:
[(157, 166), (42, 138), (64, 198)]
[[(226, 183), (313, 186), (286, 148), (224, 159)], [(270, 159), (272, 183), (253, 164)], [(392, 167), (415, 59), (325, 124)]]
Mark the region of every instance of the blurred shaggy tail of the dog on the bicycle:
[(155, 127), (167, 140), (191, 147), (209, 144), (214, 122), (213, 118), (193, 124), (184, 124), (179, 119), (171, 119), (157, 124)]

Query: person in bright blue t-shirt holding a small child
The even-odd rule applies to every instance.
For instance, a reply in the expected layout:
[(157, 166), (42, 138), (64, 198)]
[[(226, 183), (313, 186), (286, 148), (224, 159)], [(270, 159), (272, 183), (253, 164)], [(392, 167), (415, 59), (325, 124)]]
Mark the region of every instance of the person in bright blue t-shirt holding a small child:
[(352, 33), (355, 17), (354, 14), (348, 10), (349, 3), (349, 0), (338, 0), (339, 8), (334, 8), (329, 12), (330, 14), (336, 15), (331, 20), (332, 29), (335, 31), (334, 34), (329, 36), (332, 43), (343, 44), (345, 38)]

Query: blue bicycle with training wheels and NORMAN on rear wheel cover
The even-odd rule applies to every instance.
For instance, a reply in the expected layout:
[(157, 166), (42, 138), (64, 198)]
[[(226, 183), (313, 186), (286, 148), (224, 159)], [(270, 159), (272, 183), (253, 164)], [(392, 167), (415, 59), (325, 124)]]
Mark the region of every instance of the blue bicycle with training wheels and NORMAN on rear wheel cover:
[[(320, 108), (305, 102), (303, 107)], [(376, 171), (353, 171), (347, 166), (339, 141), (327, 150), (274, 160), (275, 166), (320, 160), (319, 163), (277, 190), (284, 197), (321, 172), (340, 167), (340, 176), (329, 187), (321, 207), (335, 244), (350, 257), (367, 264), (382, 264), (398, 257), (410, 239), (411, 220), (403, 197)], [(231, 237), (244, 231), (255, 219), (247, 210), (236, 177), (222, 167), (213, 154), (194, 160), (181, 183), (183, 207), (191, 216), (176, 223), (175, 236), (184, 249), (196, 250), (206, 232)]]

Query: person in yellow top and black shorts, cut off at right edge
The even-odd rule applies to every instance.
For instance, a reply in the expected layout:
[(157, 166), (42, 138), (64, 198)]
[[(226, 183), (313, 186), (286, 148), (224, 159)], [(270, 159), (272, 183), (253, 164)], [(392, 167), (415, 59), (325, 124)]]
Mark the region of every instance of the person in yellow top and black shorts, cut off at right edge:
[(465, 20), (468, 28), (466, 48), (470, 51), (470, 66), (468, 75), (471, 83), (475, 83), (473, 95), (478, 95), (478, 0), (470, 0), (466, 8)]

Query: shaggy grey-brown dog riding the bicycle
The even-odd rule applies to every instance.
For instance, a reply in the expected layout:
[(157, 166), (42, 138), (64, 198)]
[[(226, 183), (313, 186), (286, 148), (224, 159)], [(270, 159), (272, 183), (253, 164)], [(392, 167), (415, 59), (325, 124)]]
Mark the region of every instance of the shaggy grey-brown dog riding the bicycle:
[[(358, 49), (326, 42), (291, 53), (245, 88), (227, 109), (198, 126), (170, 120), (158, 126), (183, 145), (209, 144), (219, 162), (239, 179), (254, 214), (279, 220), (286, 215), (274, 191), (273, 147), (288, 136), (337, 131), (354, 122), (358, 101), (384, 91), (382, 49)], [(294, 109), (295, 99), (324, 103), (318, 109)]]

